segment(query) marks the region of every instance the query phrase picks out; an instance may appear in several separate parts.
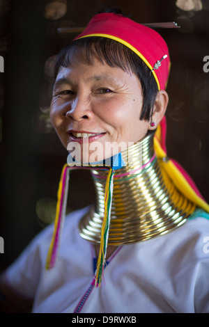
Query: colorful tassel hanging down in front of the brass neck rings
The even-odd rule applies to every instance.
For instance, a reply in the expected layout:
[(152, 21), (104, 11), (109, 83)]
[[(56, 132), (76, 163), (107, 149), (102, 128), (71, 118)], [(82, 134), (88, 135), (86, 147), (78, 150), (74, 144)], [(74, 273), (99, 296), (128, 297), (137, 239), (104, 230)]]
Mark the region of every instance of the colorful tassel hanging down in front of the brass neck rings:
[(114, 169), (110, 168), (107, 175), (107, 182), (104, 194), (104, 218), (102, 221), (101, 239), (100, 239), (100, 253), (98, 256), (97, 269), (95, 271), (95, 286), (101, 285), (102, 278), (104, 278), (104, 267), (106, 265), (107, 242), (109, 237), (109, 225), (111, 217), (111, 202), (114, 186)]

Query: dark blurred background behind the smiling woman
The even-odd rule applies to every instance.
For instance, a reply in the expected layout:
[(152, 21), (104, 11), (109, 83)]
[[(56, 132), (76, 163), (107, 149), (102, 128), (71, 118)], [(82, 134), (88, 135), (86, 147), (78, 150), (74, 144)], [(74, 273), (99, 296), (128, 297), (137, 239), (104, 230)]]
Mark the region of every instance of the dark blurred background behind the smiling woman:
[[(65, 2), (59, 1), (60, 6)], [(5, 60), (0, 73), (0, 237), (4, 240), (0, 271), (54, 218), (67, 154), (49, 122), (52, 59), (76, 35), (60, 34), (57, 28), (85, 26), (102, 3), (121, 8), (137, 22), (180, 24), (180, 29), (158, 30), (171, 55), (168, 154), (181, 163), (209, 201), (209, 72), (203, 72), (203, 58), (209, 56), (209, 0), (194, 1), (202, 8), (190, 10), (176, 6), (187, 1), (67, 0), (63, 15), (47, 9), (53, 2), (0, 0), (0, 55)], [(93, 199), (88, 172), (72, 173), (68, 210)]]

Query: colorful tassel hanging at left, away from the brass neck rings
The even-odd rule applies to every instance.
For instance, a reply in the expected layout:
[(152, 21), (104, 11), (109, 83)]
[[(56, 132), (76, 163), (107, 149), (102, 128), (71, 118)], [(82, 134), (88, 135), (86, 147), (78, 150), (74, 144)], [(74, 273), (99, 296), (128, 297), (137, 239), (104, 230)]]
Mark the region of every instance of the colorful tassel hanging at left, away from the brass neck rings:
[(61, 180), (59, 182), (59, 189), (57, 193), (57, 204), (56, 204), (56, 218), (54, 222), (54, 232), (51, 244), (49, 246), (49, 251), (47, 254), (46, 269), (53, 268), (56, 262), (56, 254), (59, 248), (61, 231), (63, 228), (63, 223), (65, 219), (65, 212), (67, 206), (67, 196), (68, 196), (68, 182), (69, 182), (69, 167), (66, 163), (63, 166), (61, 173)]

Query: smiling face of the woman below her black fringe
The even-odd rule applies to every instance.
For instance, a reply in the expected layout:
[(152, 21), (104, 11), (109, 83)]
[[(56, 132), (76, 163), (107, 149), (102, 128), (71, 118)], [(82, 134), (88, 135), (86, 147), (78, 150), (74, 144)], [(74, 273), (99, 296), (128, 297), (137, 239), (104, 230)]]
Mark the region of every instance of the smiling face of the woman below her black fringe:
[(77, 57), (57, 74), (50, 117), (65, 148), (79, 145), (83, 162), (100, 161), (146, 135), (148, 122), (139, 119), (142, 102), (134, 74)]

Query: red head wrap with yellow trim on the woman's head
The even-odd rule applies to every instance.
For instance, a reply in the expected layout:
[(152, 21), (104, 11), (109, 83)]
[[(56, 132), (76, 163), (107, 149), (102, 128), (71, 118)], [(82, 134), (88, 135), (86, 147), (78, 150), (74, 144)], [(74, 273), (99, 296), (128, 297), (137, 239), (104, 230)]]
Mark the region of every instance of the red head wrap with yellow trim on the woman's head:
[(153, 72), (157, 87), (164, 90), (169, 77), (169, 49), (153, 29), (114, 13), (95, 15), (86, 29), (75, 38), (100, 36), (116, 40), (134, 51)]

